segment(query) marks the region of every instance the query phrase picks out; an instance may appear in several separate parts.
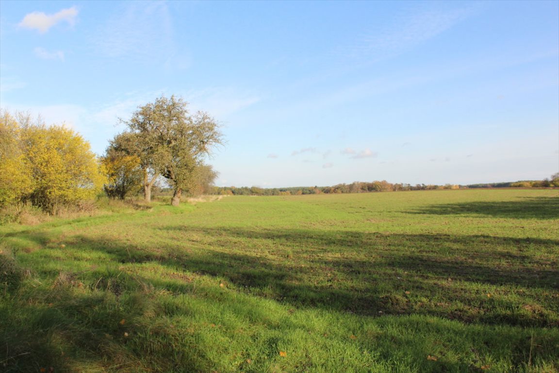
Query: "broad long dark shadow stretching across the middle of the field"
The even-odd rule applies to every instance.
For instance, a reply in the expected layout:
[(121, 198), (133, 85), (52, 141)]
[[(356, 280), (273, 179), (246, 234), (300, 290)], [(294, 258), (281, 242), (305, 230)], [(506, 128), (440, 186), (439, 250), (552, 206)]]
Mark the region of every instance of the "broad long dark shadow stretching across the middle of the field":
[[(157, 251), (86, 237), (79, 240), (81, 247), (110, 254), (117, 263), (154, 262), (173, 271), (215, 276), (248, 294), (297, 307), (559, 325), (559, 315), (553, 311), (559, 302), (552, 296), (559, 289), (559, 261), (553, 255), (559, 248), (557, 240), (295, 229), (169, 226), (162, 230), (182, 230), (185, 237), (195, 234), (205, 239), (192, 242), (189, 249), (182, 245)], [(44, 242), (41, 236), (37, 239)], [(174, 291), (191, 288), (165, 281), (157, 285)], [(492, 292), (498, 294), (488, 297)], [(525, 303), (524, 298), (535, 304)]]

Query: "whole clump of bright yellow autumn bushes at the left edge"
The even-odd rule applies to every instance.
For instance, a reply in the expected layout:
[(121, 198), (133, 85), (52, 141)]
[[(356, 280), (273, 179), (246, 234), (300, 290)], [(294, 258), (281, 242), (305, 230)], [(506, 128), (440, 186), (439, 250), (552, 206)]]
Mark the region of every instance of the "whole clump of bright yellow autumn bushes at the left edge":
[(92, 199), (105, 182), (89, 143), (64, 126), (2, 112), (0, 206), (27, 202), (54, 213), (57, 206)]

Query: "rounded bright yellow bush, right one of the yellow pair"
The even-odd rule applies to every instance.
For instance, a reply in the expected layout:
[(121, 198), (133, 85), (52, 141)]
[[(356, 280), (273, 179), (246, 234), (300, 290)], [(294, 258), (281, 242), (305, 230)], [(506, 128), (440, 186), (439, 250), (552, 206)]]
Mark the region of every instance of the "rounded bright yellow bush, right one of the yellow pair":
[(89, 143), (63, 126), (31, 125), (22, 129), (23, 152), (33, 188), (25, 198), (48, 213), (58, 204), (91, 199), (105, 177)]

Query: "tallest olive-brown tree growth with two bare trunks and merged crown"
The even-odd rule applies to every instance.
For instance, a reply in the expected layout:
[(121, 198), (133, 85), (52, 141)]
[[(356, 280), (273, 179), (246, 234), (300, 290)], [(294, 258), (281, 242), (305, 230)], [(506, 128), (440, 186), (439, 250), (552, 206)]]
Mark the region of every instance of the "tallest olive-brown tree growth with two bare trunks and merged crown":
[(222, 144), (217, 122), (205, 112), (191, 115), (187, 106), (182, 98), (161, 96), (140, 106), (129, 121), (122, 121), (128, 131), (120, 135), (119, 145), (139, 156), (148, 201), (151, 185), (162, 175), (173, 187), (172, 205), (177, 206), (183, 192), (195, 189), (203, 159), (212, 147)]

